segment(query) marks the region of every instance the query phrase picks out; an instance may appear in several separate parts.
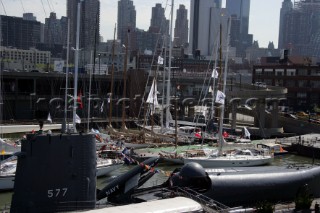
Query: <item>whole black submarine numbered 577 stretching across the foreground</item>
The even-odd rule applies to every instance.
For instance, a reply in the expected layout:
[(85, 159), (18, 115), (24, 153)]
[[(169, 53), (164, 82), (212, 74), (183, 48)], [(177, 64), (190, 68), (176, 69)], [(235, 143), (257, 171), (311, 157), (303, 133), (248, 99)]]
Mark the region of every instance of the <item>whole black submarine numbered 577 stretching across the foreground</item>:
[(141, 187), (156, 175), (158, 161), (149, 158), (96, 189), (93, 135), (29, 134), (18, 155), (11, 212), (83, 211), (186, 193), (231, 207), (293, 201), (301, 190), (320, 197), (319, 166), (204, 169), (191, 162), (175, 169), (164, 183)]

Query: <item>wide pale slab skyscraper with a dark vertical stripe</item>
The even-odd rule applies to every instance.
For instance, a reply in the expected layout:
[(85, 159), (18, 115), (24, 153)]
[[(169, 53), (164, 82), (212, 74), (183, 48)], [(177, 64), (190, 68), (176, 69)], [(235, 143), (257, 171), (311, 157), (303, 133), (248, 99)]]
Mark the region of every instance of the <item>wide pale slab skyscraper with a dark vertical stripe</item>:
[(217, 6), (221, 6), (221, 0), (191, 0), (189, 40), (191, 54), (205, 56), (211, 54), (210, 24), (214, 21), (211, 19), (211, 9), (220, 8)]

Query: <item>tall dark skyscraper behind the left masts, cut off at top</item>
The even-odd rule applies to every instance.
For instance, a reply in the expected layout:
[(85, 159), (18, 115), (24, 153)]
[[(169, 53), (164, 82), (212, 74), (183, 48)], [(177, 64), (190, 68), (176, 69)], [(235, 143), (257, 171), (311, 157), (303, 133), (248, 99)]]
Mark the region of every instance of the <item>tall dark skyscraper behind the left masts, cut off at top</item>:
[(90, 52), (99, 42), (100, 1), (67, 0), (67, 17), (70, 19), (70, 47), (76, 46), (78, 2), (82, 2), (80, 20), (80, 48), (82, 50), (80, 52), (80, 65), (83, 65), (83, 63), (89, 63)]

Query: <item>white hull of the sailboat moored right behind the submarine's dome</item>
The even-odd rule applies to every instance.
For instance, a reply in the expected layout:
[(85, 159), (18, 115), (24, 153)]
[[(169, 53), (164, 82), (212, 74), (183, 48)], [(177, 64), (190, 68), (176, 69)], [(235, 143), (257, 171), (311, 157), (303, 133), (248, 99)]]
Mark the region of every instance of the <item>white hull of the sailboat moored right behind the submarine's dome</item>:
[(184, 164), (199, 163), (204, 168), (263, 166), (272, 162), (271, 156), (218, 156), (185, 158)]

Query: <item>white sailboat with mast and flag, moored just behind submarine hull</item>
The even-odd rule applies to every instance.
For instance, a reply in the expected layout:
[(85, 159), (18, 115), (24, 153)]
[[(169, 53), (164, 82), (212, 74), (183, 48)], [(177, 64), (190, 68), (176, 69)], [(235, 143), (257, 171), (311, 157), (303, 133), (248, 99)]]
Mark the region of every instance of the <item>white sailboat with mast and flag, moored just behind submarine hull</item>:
[[(229, 52), (229, 33), (230, 33), (230, 19), (228, 21), (228, 39), (227, 39), (227, 53), (223, 74), (223, 88), (222, 91), (218, 90), (215, 102), (220, 104), (220, 118), (219, 118), (219, 145), (217, 150), (212, 150), (210, 153), (204, 153), (202, 156), (189, 156), (188, 153), (184, 157), (184, 164), (190, 162), (196, 162), (205, 168), (213, 167), (248, 167), (248, 166), (262, 166), (270, 164), (273, 160), (273, 156), (270, 153), (259, 153), (255, 150), (244, 149), (244, 150), (233, 150), (228, 152), (223, 152), (223, 146), (226, 144), (223, 137), (223, 120), (224, 120), (224, 106), (225, 106), (225, 91), (226, 91), (226, 81), (227, 81), (227, 65), (228, 65), (228, 52)], [(220, 24), (220, 57), (222, 51), (221, 45), (221, 28)], [(222, 60), (220, 59), (220, 62)], [(222, 72), (222, 66), (220, 65), (220, 71)]]

